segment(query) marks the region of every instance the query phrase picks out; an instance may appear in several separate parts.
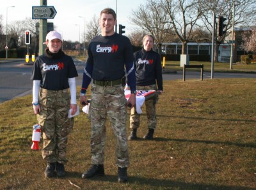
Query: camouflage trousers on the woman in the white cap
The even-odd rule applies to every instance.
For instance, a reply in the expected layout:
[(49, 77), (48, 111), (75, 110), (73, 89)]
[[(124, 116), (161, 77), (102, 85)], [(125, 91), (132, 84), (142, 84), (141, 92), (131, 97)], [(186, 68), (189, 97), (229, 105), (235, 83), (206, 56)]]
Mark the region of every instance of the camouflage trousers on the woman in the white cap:
[(41, 126), (44, 145), (42, 156), (47, 163), (66, 163), (67, 136), (72, 131), (74, 118), (68, 118), (70, 95), (67, 89), (49, 91), (40, 89), (41, 112), (38, 124)]

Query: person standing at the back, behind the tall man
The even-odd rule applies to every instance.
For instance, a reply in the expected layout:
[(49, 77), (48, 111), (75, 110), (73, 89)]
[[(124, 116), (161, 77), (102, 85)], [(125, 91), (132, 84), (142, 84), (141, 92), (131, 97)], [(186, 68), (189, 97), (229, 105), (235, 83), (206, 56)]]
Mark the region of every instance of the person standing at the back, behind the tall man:
[[(134, 53), (134, 62), (136, 66), (136, 89), (138, 91), (156, 90), (160, 94), (163, 93), (163, 77), (161, 57), (157, 52), (152, 50), (154, 38), (152, 35), (146, 35), (143, 38), (143, 49)], [(129, 81), (129, 80), (128, 80)], [(128, 89), (129, 85), (125, 87)], [(152, 99), (145, 101), (148, 133), (143, 136), (146, 140), (152, 140), (156, 129), (156, 103), (158, 95)], [(130, 128), (132, 129), (129, 140), (137, 139), (137, 129), (140, 126), (140, 115), (136, 112), (136, 108), (131, 109)]]

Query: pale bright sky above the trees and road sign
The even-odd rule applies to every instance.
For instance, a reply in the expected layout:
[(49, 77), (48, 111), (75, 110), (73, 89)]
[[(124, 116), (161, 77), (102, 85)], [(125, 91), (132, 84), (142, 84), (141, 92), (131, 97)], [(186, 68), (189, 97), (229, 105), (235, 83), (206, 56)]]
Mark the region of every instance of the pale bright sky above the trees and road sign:
[[(3, 1), (3, 0), (2, 0)], [(40, 0), (4, 0), (1, 1), (0, 15), (3, 16), (2, 24), (6, 27), (6, 10), (8, 10), (8, 24), (14, 20), (24, 20), (32, 17), (32, 6), (40, 6)], [(117, 0), (117, 21), (125, 26), (125, 34), (129, 34), (134, 26), (129, 24), (129, 15), (146, 0)], [(14, 8), (8, 8), (15, 6)], [(54, 6), (57, 11), (54, 19), (48, 22), (54, 23), (54, 29), (60, 31), (64, 40), (79, 41), (80, 33), (83, 33), (84, 18), (87, 22), (92, 20), (93, 15), (98, 17), (104, 8), (113, 8), (116, 11), (116, 0), (47, 0), (47, 6)], [(84, 17), (84, 18), (79, 18)], [(76, 26), (78, 24), (79, 26)], [(5, 30), (4, 30), (5, 31)], [(5, 34), (5, 32), (4, 32)]]

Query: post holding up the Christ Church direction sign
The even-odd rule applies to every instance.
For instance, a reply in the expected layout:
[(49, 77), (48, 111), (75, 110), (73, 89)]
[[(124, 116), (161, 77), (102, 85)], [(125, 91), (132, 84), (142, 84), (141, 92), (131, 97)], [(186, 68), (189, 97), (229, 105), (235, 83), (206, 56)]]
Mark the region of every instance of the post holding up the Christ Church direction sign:
[[(40, 6), (47, 6), (47, 0), (40, 0)], [(39, 55), (44, 54), (44, 41), (47, 34), (47, 19), (40, 19), (39, 25)]]

